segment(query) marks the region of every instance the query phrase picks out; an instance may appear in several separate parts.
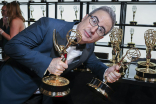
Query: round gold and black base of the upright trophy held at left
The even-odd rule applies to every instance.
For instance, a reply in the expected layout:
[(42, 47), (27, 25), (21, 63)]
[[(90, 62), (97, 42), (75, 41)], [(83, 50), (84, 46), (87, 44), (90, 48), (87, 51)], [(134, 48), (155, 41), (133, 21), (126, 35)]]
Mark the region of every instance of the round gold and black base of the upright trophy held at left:
[(69, 80), (60, 76), (45, 76), (40, 91), (50, 97), (64, 97), (70, 93)]

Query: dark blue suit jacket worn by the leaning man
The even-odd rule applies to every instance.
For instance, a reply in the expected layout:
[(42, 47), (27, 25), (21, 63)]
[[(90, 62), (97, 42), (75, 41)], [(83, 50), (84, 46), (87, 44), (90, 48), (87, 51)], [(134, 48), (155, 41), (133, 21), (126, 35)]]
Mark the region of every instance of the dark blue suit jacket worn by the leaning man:
[[(36, 91), (50, 62), (58, 57), (52, 41), (53, 30), (56, 29), (64, 39), (74, 24), (43, 17), (5, 45), (5, 53), (11, 58), (0, 69), (0, 104), (22, 104)], [(93, 51), (94, 43), (86, 44), (79, 61), (71, 63), (66, 70), (84, 63), (102, 80), (107, 66)]]

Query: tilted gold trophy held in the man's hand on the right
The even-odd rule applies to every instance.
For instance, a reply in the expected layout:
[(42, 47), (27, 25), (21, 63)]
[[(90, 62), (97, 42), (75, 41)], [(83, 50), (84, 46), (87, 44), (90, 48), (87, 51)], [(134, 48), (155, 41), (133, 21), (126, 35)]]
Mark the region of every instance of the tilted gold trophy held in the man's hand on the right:
[[(136, 48), (131, 48), (127, 50), (126, 54), (119, 60), (117, 65), (126, 66), (130, 64), (132, 61), (137, 60), (141, 56), (140, 51)], [(124, 58), (127, 58), (129, 62), (126, 64), (123, 63)], [(97, 78), (93, 78), (90, 83), (87, 83), (87, 86), (97, 95), (102, 97), (103, 99), (111, 100), (110, 96), (113, 93), (113, 89), (107, 83), (107, 77), (104, 78), (105, 81), (101, 81)]]

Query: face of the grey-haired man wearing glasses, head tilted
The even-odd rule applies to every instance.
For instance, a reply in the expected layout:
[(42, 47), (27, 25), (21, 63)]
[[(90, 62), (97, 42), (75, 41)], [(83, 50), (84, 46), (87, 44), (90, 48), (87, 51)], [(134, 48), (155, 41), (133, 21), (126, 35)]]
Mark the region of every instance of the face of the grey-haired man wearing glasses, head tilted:
[[(112, 20), (107, 12), (99, 10), (92, 14), (92, 16), (95, 16), (98, 20), (98, 25), (105, 29), (105, 34), (111, 29)], [(80, 44), (93, 43), (103, 38), (103, 36), (97, 34), (98, 26), (90, 24), (90, 18), (90, 16), (86, 15), (77, 26), (82, 35)]]

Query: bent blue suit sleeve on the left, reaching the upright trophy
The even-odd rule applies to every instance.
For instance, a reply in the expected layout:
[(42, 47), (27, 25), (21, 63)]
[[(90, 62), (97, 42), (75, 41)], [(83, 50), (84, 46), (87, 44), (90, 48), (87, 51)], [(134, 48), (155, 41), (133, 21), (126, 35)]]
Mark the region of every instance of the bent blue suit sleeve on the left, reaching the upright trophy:
[(48, 18), (41, 18), (12, 38), (4, 47), (5, 53), (43, 77), (52, 58), (34, 48), (42, 44), (49, 27)]

